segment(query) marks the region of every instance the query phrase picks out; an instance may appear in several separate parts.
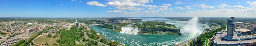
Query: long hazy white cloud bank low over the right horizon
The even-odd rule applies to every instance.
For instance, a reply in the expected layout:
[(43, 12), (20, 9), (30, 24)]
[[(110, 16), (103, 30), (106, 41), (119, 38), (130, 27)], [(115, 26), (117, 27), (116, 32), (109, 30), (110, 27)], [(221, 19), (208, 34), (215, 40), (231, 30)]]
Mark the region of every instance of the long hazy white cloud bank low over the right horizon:
[[(220, 11), (224, 12), (220, 12)], [(239, 12), (238, 12), (239, 11)], [(173, 14), (168, 14), (166, 16), (172, 15), (172, 17), (193, 17), (193, 16), (198, 16), (198, 17), (256, 17), (256, 14), (253, 12), (241, 12), (241, 9), (214, 9), (214, 10), (206, 10), (206, 11), (196, 11), (193, 13), (173, 13)], [(158, 14), (157, 14), (158, 15)]]

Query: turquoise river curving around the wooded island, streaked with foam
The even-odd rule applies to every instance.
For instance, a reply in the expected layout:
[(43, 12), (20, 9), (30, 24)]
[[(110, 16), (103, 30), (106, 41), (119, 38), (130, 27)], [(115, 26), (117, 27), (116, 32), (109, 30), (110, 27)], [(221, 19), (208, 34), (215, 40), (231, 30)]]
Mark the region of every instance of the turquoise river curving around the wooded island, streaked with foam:
[[(114, 32), (99, 26), (92, 26), (93, 30), (97, 31), (99, 34), (105, 35), (106, 39), (109, 41), (119, 41), (126, 46), (175, 46), (178, 43), (183, 41), (195, 38), (199, 36), (205, 28), (210, 28), (206, 24), (195, 22), (196, 26), (190, 26), (193, 24), (189, 21), (179, 21), (179, 20), (169, 20), (165, 18), (140, 18), (143, 22), (145, 21), (157, 21), (165, 22), (172, 25), (175, 25), (177, 28), (180, 28), (182, 35), (180, 36), (169, 36), (169, 35), (134, 35), (134, 34), (125, 34), (120, 32)], [(196, 18), (198, 19), (198, 18)], [(205, 26), (205, 27), (202, 27)]]

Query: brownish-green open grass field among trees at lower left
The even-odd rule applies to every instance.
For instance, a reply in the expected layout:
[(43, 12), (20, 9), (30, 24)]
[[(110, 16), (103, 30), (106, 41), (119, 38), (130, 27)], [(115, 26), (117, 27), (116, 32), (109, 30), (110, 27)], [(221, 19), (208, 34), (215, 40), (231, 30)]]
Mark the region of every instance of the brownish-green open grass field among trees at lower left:
[[(60, 34), (58, 34), (60, 36)], [(48, 38), (45, 35), (39, 35), (38, 38), (35, 39), (35, 42), (33, 43), (41, 43), (41, 44), (45, 44), (45, 43), (49, 43), (50, 46), (55, 46), (53, 45), (53, 43), (57, 43), (56, 40), (59, 39), (60, 37), (56, 37), (56, 38)], [(58, 43), (57, 43), (58, 44)]]

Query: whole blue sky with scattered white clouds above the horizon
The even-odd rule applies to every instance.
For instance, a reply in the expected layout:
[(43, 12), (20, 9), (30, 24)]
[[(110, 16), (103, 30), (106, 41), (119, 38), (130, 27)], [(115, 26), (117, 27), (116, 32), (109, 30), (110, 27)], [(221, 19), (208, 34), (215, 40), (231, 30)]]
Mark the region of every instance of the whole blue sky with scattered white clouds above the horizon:
[(256, 17), (255, 0), (2, 0), (0, 17)]

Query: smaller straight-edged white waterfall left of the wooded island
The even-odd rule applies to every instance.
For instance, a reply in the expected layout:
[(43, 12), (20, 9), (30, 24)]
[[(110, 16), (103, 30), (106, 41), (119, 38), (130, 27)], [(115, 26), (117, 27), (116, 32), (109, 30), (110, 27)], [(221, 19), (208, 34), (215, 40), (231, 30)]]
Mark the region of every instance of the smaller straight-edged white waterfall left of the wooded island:
[(127, 33), (127, 34), (134, 34), (137, 35), (138, 32), (140, 31), (138, 28), (133, 28), (133, 27), (122, 27), (120, 33)]

